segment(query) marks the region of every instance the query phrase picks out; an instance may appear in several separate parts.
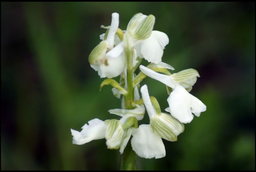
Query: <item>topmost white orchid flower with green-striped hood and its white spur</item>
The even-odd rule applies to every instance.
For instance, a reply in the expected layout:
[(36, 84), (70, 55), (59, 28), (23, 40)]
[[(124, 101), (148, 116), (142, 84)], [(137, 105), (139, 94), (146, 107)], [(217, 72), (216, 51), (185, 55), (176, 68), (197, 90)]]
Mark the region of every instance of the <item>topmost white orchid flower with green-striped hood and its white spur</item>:
[[(135, 14), (130, 20), (125, 34), (132, 40), (137, 56), (148, 62), (159, 63), (162, 61), (164, 47), (169, 43), (168, 36), (160, 31), (152, 31), (155, 24), (155, 16)], [(124, 51), (124, 44), (118, 44), (113, 51), (107, 53), (107, 57), (117, 58)]]

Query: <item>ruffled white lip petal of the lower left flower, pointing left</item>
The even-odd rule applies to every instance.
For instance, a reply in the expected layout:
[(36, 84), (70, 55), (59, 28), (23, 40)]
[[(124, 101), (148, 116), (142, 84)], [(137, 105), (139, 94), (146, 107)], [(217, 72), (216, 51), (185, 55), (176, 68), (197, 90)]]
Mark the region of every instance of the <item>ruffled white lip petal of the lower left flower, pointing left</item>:
[(85, 124), (82, 127), (82, 131), (78, 132), (71, 129), (71, 134), (73, 136), (73, 144), (83, 145), (92, 140), (98, 140), (105, 138), (105, 125), (104, 121), (101, 121), (97, 118), (88, 122), (89, 125)]

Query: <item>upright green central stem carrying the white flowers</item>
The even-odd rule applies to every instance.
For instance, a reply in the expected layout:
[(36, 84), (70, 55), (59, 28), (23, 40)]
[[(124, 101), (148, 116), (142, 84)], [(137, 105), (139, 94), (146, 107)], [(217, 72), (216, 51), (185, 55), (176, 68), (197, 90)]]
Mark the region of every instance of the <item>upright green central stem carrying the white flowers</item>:
[[(125, 38), (124, 38), (125, 39)], [(127, 39), (127, 38), (126, 38)], [(128, 38), (129, 39), (129, 38)], [(124, 96), (125, 109), (134, 109), (132, 105), (134, 102), (134, 88), (133, 88), (133, 67), (132, 67), (132, 46), (127, 41), (127, 47), (125, 47), (125, 57), (127, 64), (127, 92)], [(137, 154), (132, 150), (131, 139), (127, 143), (120, 160), (120, 170), (137, 170), (136, 166)]]

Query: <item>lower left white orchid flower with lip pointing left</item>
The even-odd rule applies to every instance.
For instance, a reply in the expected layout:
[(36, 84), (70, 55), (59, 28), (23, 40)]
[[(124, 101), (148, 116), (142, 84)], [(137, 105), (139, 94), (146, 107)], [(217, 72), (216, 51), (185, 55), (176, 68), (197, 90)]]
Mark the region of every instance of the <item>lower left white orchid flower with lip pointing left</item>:
[[(82, 131), (71, 129), (73, 136), (73, 144), (83, 145), (92, 140), (106, 138), (108, 149), (118, 149), (120, 147), (121, 154), (126, 147), (132, 132), (134, 119), (142, 120), (145, 113), (144, 105), (136, 105), (135, 109), (111, 109), (109, 113), (121, 116), (120, 120), (102, 121), (97, 118), (88, 122), (82, 127)], [(132, 119), (134, 118), (134, 119)]]

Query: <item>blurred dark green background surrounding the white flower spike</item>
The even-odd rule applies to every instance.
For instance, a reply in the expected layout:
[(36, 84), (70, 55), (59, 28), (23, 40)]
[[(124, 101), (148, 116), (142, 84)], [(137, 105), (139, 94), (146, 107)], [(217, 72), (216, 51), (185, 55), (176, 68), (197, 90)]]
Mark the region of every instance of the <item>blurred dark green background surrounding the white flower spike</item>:
[[(121, 101), (110, 86), (99, 91), (104, 79), (88, 62), (113, 12), (123, 30), (135, 13), (153, 14), (170, 40), (162, 61), (198, 70), (190, 93), (207, 106), (178, 141), (163, 140), (164, 158), (139, 157), (138, 168), (255, 170), (254, 2), (1, 2), (1, 170), (118, 169), (105, 139), (73, 145), (70, 132), (118, 118), (108, 110)], [(143, 84), (164, 112), (165, 85)]]

